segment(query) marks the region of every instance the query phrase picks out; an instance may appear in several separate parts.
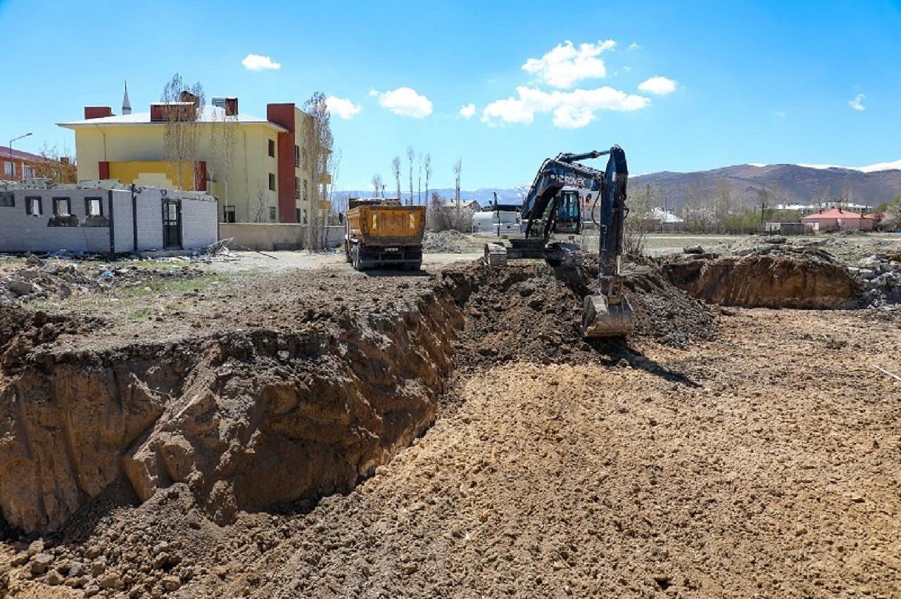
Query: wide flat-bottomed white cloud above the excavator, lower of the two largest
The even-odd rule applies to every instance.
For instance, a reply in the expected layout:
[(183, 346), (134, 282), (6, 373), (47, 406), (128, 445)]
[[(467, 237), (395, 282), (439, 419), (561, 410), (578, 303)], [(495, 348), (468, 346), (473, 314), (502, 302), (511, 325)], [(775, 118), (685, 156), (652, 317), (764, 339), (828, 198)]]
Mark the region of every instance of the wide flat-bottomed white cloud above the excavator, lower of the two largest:
[(578, 129), (594, 121), (596, 111), (637, 111), (651, 105), (651, 100), (642, 95), (626, 94), (607, 86), (551, 93), (517, 87), (516, 93), (518, 97), (488, 104), (482, 112), (482, 122), (530, 123), (536, 112), (550, 112), (556, 127)]

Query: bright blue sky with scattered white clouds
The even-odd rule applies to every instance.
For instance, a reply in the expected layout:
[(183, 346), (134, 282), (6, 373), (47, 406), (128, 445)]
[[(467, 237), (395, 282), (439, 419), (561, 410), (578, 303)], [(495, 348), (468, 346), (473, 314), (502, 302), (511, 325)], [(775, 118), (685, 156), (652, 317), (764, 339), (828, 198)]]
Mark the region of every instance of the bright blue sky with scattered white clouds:
[(179, 73), (263, 117), (329, 96), (339, 190), (393, 188), (394, 156), (405, 182), (408, 147), (464, 189), (613, 144), (633, 174), (901, 158), (901, 0), (0, 0), (0, 26), (0, 145), (26, 151), (74, 151), (55, 123), (118, 114), (125, 80), (146, 111)]

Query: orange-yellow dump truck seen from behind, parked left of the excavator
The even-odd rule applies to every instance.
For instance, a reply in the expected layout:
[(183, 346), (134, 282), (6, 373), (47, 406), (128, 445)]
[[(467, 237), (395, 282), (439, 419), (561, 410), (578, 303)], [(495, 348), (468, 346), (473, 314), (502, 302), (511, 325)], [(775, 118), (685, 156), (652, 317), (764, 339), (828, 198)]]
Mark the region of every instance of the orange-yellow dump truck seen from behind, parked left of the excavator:
[(423, 265), (425, 206), (351, 198), (344, 220), (344, 254), (356, 270), (374, 266), (419, 270)]

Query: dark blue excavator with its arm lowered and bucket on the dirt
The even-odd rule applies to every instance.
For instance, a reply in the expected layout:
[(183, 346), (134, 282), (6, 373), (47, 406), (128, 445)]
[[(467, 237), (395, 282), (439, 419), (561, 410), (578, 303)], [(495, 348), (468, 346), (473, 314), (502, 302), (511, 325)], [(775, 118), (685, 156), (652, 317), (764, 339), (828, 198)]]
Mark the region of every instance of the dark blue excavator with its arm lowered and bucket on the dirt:
[[(586, 159), (608, 156), (604, 171), (580, 164)], [(551, 237), (578, 235), (582, 232), (582, 194), (592, 200), (592, 220), (598, 230), (598, 289), (585, 298), (582, 307), (582, 335), (616, 337), (632, 333), (635, 315), (623, 294), (620, 266), (623, 255), (623, 223), (626, 183), (629, 169), (623, 148), (592, 150), (582, 154), (561, 153), (548, 158), (538, 169), (523, 201), (521, 239), (510, 239), (511, 247), (501, 243), (485, 246), (488, 266), (506, 264), (507, 258), (543, 258), (551, 266), (568, 263), (579, 248)], [(599, 221), (595, 219), (600, 208)]]

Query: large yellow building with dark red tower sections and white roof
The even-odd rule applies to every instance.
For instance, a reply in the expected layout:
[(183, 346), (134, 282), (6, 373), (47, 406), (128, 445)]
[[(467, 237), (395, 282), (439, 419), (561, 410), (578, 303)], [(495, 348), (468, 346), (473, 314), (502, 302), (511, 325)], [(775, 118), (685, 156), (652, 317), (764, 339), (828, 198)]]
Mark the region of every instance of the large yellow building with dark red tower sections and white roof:
[[(311, 118), (295, 104), (270, 103), (263, 119), (238, 112), (234, 97), (203, 107), (190, 94), (182, 100), (150, 104), (148, 112), (123, 105), (119, 116), (87, 106), (82, 121), (59, 123), (75, 131), (78, 180), (211, 193), (222, 222), (305, 224), (329, 210), (316, 193), (323, 175), (314, 181), (302, 160), (313, 152), (305, 143)], [(182, 106), (192, 116), (179, 117)], [(177, 143), (188, 151), (173, 151)]]

